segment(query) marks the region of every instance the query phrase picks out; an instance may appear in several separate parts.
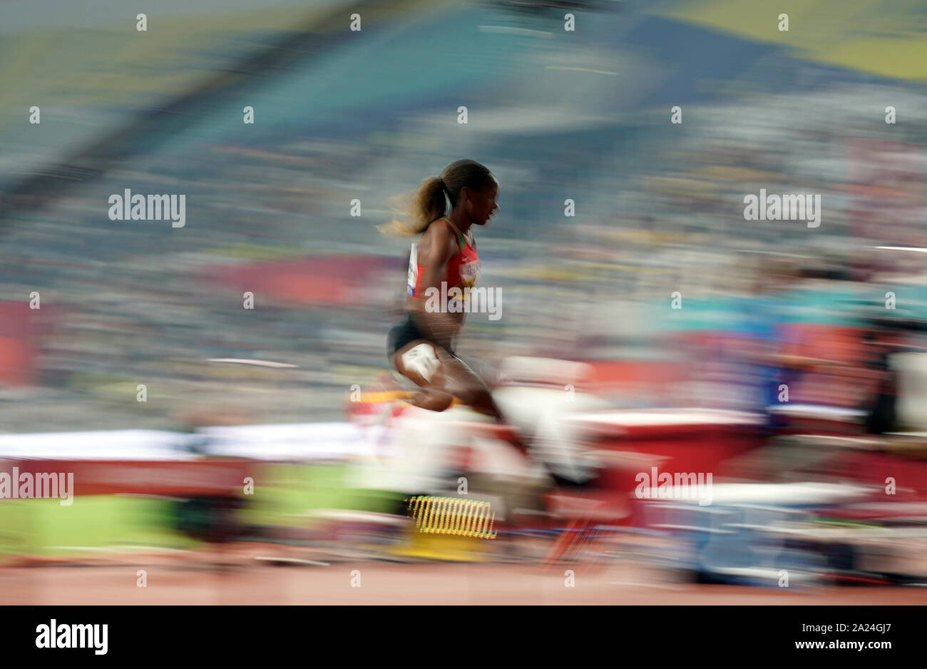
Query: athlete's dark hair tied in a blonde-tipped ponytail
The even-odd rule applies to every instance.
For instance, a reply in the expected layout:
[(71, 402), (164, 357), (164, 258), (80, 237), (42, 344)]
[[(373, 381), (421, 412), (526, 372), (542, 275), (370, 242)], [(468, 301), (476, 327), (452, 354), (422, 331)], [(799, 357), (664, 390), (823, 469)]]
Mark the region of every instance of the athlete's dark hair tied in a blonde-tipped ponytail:
[(489, 168), (476, 160), (452, 162), (441, 170), (440, 176), (425, 179), (413, 194), (400, 196), (399, 202), (390, 207), (397, 216), (377, 227), (381, 233), (388, 235), (421, 234), (432, 221), (444, 215), (447, 206), (445, 192), (453, 208), (464, 187), (479, 191), (492, 178)]

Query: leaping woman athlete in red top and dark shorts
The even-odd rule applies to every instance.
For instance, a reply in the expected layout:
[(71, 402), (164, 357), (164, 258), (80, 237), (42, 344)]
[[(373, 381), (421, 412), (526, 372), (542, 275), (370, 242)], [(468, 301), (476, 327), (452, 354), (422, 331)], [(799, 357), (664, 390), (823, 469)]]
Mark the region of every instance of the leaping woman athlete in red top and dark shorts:
[[(487, 224), (499, 209), (498, 195), (499, 182), (489, 169), (476, 160), (457, 160), (422, 183), (411, 221), (393, 225), (404, 234), (421, 234), (409, 259), (405, 311), (387, 337), (390, 364), (421, 388), (408, 400), (416, 407), (443, 411), (457, 398), (502, 422), (487, 385), (454, 353), (464, 325), (457, 296), (468, 297), (464, 288), (476, 283), (480, 269), (473, 226)], [(454, 287), (461, 291), (451, 291)], [(451, 292), (455, 297), (447, 297)]]

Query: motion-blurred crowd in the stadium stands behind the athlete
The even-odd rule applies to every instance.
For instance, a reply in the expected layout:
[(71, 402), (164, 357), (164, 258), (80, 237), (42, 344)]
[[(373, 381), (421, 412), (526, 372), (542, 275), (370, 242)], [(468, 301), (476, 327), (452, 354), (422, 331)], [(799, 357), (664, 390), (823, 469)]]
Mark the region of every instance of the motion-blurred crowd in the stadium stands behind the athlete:
[[(284, 78), (320, 67), (307, 62)], [(277, 81), (259, 77), (246, 97), (272, 105)], [(622, 82), (577, 85), (619, 91)], [(578, 96), (577, 118), (607, 98)], [(371, 120), (374, 110), (356, 117), (369, 123), (362, 128), (295, 114), (252, 132), (215, 120), (226, 100), (205, 95), (200, 120), (177, 136), (133, 138), (132, 155), (98, 179), (39, 208), (7, 209), (3, 300), (25, 305), (34, 291), (41, 309), (19, 311), (31, 382), (3, 388), (2, 429), (163, 427), (191, 410), (255, 423), (342, 419), (349, 388), (387, 369), (386, 333), (403, 295), (412, 240), (376, 226), (397, 196), (461, 157), (502, 183), (499, 221), (477, 234), (480, 283), (502, 287), (502, 319), (471, 316), (464, 357), (688, 360), (711, 377), (694, 382), (717, 381), (734, 372), (702, 364), (706, 349), (687, 333), (762, 339), (762, 317), (919, 320), (921, 254), (876, 248), (927, 246), (923, 126), (886, 124), (883, 113), (892, 104), (904, 119), (918, 98), (891, 82), (814, 82), (788, 95), (734, 86), (685, 106), (681, 124), (667, 107), (644, 105), (612, 120), (480, 133), (474, 114), (464, 136), (423, 122), (412, 96), (385, 124)], [(185, 194), (185, 227), (108, 220), (108, 196), (125, 188)], [(743, 197), (760, 189), (819, 194), (819, 228), (746, 221)], [(351, 215), (355, 198), (360, 216)], [(565, 216), (567, 199), (575, 216)], [(254, 309), (243, 306), (248, 291)], [(296, 367), (210, 362), (229, 358)], [(651, 399), (710, 398), (686, 390)]]

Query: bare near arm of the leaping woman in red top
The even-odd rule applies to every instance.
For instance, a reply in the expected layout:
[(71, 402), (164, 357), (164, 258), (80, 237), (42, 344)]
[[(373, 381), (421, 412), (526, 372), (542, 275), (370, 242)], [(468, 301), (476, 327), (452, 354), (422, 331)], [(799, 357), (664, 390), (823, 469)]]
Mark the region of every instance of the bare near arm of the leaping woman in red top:
[(422, 266), (423, 295), (418, 299), (409, 299), (409, 310), (419, 332), (441, 347), (451, 350), (453, 338), (460, 331), (464, 314), (447, 311), (429, 311), (425, 290), (441, 290), (441, 280), (447, 270), (448, 262), (460, 249), (451, 228), (444, 224), (432, 223), (425, 230), (418, 245), (418, 264)]

